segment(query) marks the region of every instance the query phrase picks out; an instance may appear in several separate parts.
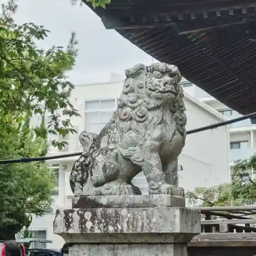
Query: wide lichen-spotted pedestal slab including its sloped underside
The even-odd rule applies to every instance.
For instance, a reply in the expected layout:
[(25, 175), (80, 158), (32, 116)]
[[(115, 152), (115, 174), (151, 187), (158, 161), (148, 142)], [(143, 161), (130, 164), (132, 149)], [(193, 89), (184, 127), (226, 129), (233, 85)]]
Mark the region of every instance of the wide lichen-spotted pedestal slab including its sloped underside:
[(200, 219), (182, 207), (67, 209), (56, 212), (54, 233), (72, 243), (187, 243)]

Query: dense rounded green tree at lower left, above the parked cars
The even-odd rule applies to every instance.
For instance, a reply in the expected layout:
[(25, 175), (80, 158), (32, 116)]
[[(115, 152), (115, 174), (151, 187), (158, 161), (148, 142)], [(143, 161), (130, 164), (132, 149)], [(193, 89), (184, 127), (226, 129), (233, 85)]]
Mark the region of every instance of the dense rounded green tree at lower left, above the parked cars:
[[(0, 140), (0, 159), (45, 155), (47, 141), (35, 136), (29, 118), (23, 125), (14, 115), (13, 120), (13, 130)], [(29, 227), (32, 214), (45, 214), (52, 204), (55, 177), (45, 162), (0, 165), (0, 177), (0, 240), (8, 240)]]

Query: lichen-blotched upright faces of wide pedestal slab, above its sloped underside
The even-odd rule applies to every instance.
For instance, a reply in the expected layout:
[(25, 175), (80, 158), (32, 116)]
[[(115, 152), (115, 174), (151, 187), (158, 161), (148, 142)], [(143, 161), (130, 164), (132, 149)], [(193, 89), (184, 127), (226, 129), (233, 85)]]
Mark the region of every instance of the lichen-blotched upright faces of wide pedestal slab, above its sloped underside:
[[(168, 210), (163, 207), (149, 207), (125, 208), (127, 214), (123, 215), (123, 209), (87, 208), (61, 211), (55, 218), (54, 225), (57, 227), (54, 231), (58, 234), (66, 233), (66, 236), (72, 238), (73, 234), (88, 233), (109, 233), (112, 236), (114, 233), (189, 233), (200, 230), (200, 212), (187, 215), (182, 208), (172, 207)], [(67, 230), (68, 226), (70, 228)]]

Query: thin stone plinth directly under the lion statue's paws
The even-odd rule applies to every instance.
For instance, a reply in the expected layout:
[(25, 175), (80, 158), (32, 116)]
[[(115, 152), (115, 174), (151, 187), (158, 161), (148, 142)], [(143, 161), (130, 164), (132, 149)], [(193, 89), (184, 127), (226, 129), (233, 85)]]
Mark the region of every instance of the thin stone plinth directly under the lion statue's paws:
[(185, 207), (185, 198), (169, 195), (87, 196), (73, 198), (73, 208)]

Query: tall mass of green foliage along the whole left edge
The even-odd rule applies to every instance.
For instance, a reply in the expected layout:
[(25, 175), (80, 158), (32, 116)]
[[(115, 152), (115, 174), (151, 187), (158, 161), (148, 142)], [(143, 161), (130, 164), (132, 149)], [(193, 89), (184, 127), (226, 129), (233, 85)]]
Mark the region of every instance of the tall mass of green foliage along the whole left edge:
[[(79, 115), (69, 100), (74, 86), (67, 80), (75, 63), (74, 33), (66, 49), (39, 49), (36, 42), (49, 31), (33, 23), (15, 24), (11, 14), (16, 7), (9, 1), (0, 15), (0, 159), (45, 156), (48, 136), (75, 133), (71, 118)], [(31, 127), (34, 114), (41, 119)], [(59, 148), (67, 143), (53, 141)], [(54, 187), (45, 162), (0, 165), (0, 240), (29, 227), (33, 214), (44, 215)]]

